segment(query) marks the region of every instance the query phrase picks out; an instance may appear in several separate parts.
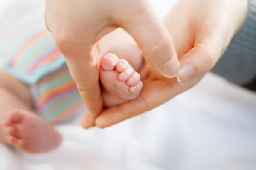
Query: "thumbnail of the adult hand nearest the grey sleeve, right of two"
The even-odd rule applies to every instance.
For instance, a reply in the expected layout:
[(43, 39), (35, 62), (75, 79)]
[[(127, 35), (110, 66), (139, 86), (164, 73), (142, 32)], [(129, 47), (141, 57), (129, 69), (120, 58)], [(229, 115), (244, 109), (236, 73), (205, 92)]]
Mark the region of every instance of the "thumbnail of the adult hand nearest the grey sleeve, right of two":
[(184, 63), (177, 74), (177, 81), (182, 85), (191, 80), (195, 75), (195, 69), (192, 64)]

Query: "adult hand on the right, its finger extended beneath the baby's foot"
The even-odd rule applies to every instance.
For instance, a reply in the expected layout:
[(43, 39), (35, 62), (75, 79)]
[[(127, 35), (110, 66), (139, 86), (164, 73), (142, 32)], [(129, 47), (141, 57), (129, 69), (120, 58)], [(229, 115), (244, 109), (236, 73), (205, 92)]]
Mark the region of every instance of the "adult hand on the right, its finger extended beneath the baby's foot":
[[(247, 0), (181, 0), (165, 20), (181, 63), (178, 81), (167, 79), (145, 65), (140, 95), (103, 111), (96, 118), (96, 126), (108, 127), (139, 115), (196, 85), (241, 28), (247, 6)], [(89, 127), (89, 119), (87, 115), (84, 117), (84, 127)]]

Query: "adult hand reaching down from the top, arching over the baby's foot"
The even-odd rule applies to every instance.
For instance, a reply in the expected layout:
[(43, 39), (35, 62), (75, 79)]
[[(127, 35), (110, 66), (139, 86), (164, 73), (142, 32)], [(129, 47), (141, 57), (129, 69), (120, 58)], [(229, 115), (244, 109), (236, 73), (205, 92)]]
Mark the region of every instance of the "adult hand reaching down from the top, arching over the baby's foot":
[(105, 34), (122, 27), (158, 72), (175, 77), (180, 69), (172, 38), (148, 0), (46, 0), (45, 23), (94, 117), (103, 104), (93, 49)]

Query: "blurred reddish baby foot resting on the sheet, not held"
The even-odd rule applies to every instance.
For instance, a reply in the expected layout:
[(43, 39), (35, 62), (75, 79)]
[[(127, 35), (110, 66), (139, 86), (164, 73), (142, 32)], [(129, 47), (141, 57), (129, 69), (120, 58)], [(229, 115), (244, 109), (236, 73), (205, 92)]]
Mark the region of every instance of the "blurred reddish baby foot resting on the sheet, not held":
[(4, 127), (6, 140), (28, 153), (44, 153), (61, 144), (61, 135), (41, 117), (25, 111), (12, 111)]

